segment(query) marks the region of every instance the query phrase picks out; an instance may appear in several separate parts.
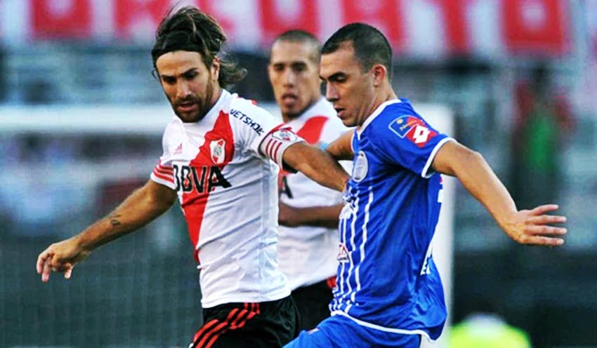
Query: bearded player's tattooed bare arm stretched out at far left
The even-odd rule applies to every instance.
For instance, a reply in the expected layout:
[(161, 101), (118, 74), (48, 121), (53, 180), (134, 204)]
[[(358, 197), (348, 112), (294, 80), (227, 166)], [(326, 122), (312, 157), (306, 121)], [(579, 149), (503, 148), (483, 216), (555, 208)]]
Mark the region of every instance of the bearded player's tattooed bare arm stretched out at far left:
[(37, 273), (41, 274), (41, 281), (48, 281), (52, 270), (64, 272), (65, 278), (70, 279), (74, 265), (93, 249), (143, 227), (168, 210), (174, 201), (175, 191), (149, 180), (110, 215), (96, 221), (77, 236), (48, 246), (39, 254)]

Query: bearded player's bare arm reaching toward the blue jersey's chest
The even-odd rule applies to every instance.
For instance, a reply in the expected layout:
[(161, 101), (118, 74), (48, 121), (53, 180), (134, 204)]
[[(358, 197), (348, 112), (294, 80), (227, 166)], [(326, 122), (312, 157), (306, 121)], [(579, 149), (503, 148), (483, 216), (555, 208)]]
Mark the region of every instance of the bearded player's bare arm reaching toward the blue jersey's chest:
[(284, 164), (307, 175), (318, 184), (342, 192), (348, 173), (329, 154), (306, 142), (290, 145), (282, 157)]

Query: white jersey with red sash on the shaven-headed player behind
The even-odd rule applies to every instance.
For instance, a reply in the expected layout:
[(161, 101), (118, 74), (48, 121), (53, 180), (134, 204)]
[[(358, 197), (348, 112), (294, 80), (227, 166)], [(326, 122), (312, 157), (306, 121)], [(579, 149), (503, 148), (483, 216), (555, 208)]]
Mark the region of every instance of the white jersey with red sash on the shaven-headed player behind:
[[(324, 98), (309, 107), (290, 126), (296, 135), (311, 145), (329, 144), (348, 128), (336, 116), (336, 110)], [(343, 161), (344, 162), (344, 161)], [(350, 173), (352, 163), (341, 163)], [(296, 208), (334, 206), (343, 203), (341, 192), (323, 187), (303, 173), (282, 173), (280, 201)], [(337, 229), (326, 227), (280, 226), (278, 260), (294, 290), (336, 275), (339, 236)]]

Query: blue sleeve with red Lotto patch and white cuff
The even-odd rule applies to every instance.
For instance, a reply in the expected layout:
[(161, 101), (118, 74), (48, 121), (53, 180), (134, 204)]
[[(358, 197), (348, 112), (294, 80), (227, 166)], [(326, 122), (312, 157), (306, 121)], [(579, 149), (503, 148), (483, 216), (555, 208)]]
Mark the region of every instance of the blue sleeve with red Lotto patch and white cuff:
[(390, 106), (379, 116), (370, 125), (374, 133), (368, 136), (374, 147), (389, 161), (430, 178), (435, 154), (455, 140), (436, 131), (412, 109)]

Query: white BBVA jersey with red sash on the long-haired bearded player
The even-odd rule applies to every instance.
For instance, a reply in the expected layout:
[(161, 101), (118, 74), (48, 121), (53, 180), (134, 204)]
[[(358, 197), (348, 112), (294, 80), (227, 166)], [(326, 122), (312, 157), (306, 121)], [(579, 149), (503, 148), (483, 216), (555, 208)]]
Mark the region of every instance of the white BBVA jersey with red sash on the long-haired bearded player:
[[(289, 295), (277, 265), (277, 175), (301, 141), (271, 114), (223, 90), (197, 123), (174, 116), (151, 179), (178, 192), (199, 262), (202, 306)], [(272, 159), (273, 161), (271, 161)]]

